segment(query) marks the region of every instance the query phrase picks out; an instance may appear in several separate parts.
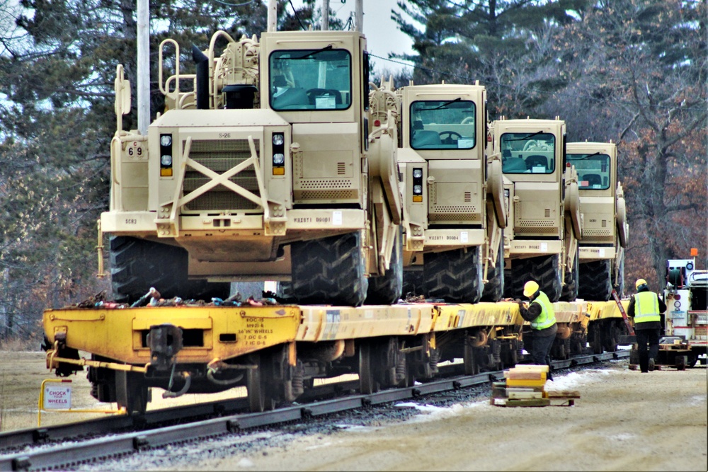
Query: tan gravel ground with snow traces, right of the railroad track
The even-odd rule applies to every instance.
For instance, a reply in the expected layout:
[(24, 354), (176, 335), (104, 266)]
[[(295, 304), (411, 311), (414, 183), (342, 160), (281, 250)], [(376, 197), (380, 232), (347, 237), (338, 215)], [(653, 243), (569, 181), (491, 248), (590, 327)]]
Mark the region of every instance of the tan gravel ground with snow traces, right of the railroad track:
[(708, 470), (704, 366), (640, 374), (624, 360), (554, 379), (547, 390), (581, 393), (575, 406), (503, 408), (465, 389), (80, 470)]

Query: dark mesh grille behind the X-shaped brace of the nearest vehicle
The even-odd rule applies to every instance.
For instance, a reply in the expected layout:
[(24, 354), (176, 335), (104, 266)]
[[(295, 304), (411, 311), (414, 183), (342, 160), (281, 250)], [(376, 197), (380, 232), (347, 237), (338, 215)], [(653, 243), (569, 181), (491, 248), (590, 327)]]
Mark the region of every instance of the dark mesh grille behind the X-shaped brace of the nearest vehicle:
[[(182, 150), (184, 151), (186, 142), (182, 142)], [(256, 153), (260, 153), (260, 139), (253, 139), (253, 144), (256, 146)], [(251, 157), (251, 149), (248, 139), (229, 139), (211, 141), (206, 139), (197, 139), (192, 142), (190, 149), (190, 158), (202, 166), (209, 168), (215, 173), (222, 174), (230, 168), (237, 166), (239, 163)], [(206, 175), (187, 168), (183, 183), (185, 195), (199, 188), (201, 185), (210, 182), (210, 178)], [(253, 167), (246, 168), (237, 173), (230, 181), (239, 185), (239, 187), (249, 190), (254, 194), (261, 196), (258, 191), (258, 180)], [(253, 210), (259, 206), (251, 202), (247, 198), (232, 192), (224, 185), (217, 185), (215, 188), (208, 190), (204, 195), (195, 198), (187, 205), (185, 210), (191, 212), (204, 212), (211, 210)]]

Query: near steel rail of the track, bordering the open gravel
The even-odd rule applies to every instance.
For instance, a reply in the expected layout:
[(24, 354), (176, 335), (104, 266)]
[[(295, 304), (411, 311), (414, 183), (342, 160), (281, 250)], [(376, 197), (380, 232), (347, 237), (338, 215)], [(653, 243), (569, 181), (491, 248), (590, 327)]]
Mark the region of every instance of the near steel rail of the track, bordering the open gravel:
[[(629, 357), (628, 350), (605, 352), (603, 354), (583, 355), (552, 362), (555, 369), (576, 367), (581, 364), (592, 364), (610, 359)], [(344, 410), (366, 408), (371, 405), (390, 403), (407, 398), (458, 390), (459, 388), (486, 384), (503, 379), (503, 371), (485, 372), (472, 376), (456, 376), (450, 379), (430, 381), (426, 384), (392, 388), (370, 395), (354, 395), (333, 400), (293, 405), (263, 413), (245, 413), (230, 415), (209, 420), (201, 420), (183, 425), (160, 427), (150, 431), (129, 432), (113, 437), (89, 439), (80, 443), (62, 444), (57, 447), (30, 451), (26, 453), (7, 454), (0, 456), (0, 471), (34, 470), (42, 468), (57, 468), (74, 466), (86, 461), (96, 461), (110, 456), (131, 454), (135, 451), (161, 447), (166, 444), (205, 439), (222, 434), (239, 432), (252, 427), (275, 425), (329, 415)], [(160, 410), (166, 414), (166, 410)], [(85, 430), (84, 430), (85, 431)], [(104, 431), (105, 432), (105, 431)]]

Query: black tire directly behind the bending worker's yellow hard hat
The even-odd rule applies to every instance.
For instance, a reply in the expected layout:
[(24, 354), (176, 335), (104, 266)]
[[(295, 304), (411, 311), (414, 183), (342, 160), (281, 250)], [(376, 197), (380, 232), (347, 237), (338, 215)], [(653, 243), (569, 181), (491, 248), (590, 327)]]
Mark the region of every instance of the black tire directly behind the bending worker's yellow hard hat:
[(513, 297), (524, 297), (524, 284), (535, 280), (541, 292), (555, 303), (561, 297), (561, 272), (558, 268), (558, 254), (537, 258), (515, 259), (511, 261)]

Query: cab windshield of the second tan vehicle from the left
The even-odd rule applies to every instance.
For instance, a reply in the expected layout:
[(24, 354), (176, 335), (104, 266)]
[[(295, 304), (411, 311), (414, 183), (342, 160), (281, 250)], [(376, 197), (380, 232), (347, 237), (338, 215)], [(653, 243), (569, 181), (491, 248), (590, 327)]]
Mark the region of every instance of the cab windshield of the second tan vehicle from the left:
[(469, 100), (425, 100), (411, 104), (413, 149), (472, 149), (475, 105)]

